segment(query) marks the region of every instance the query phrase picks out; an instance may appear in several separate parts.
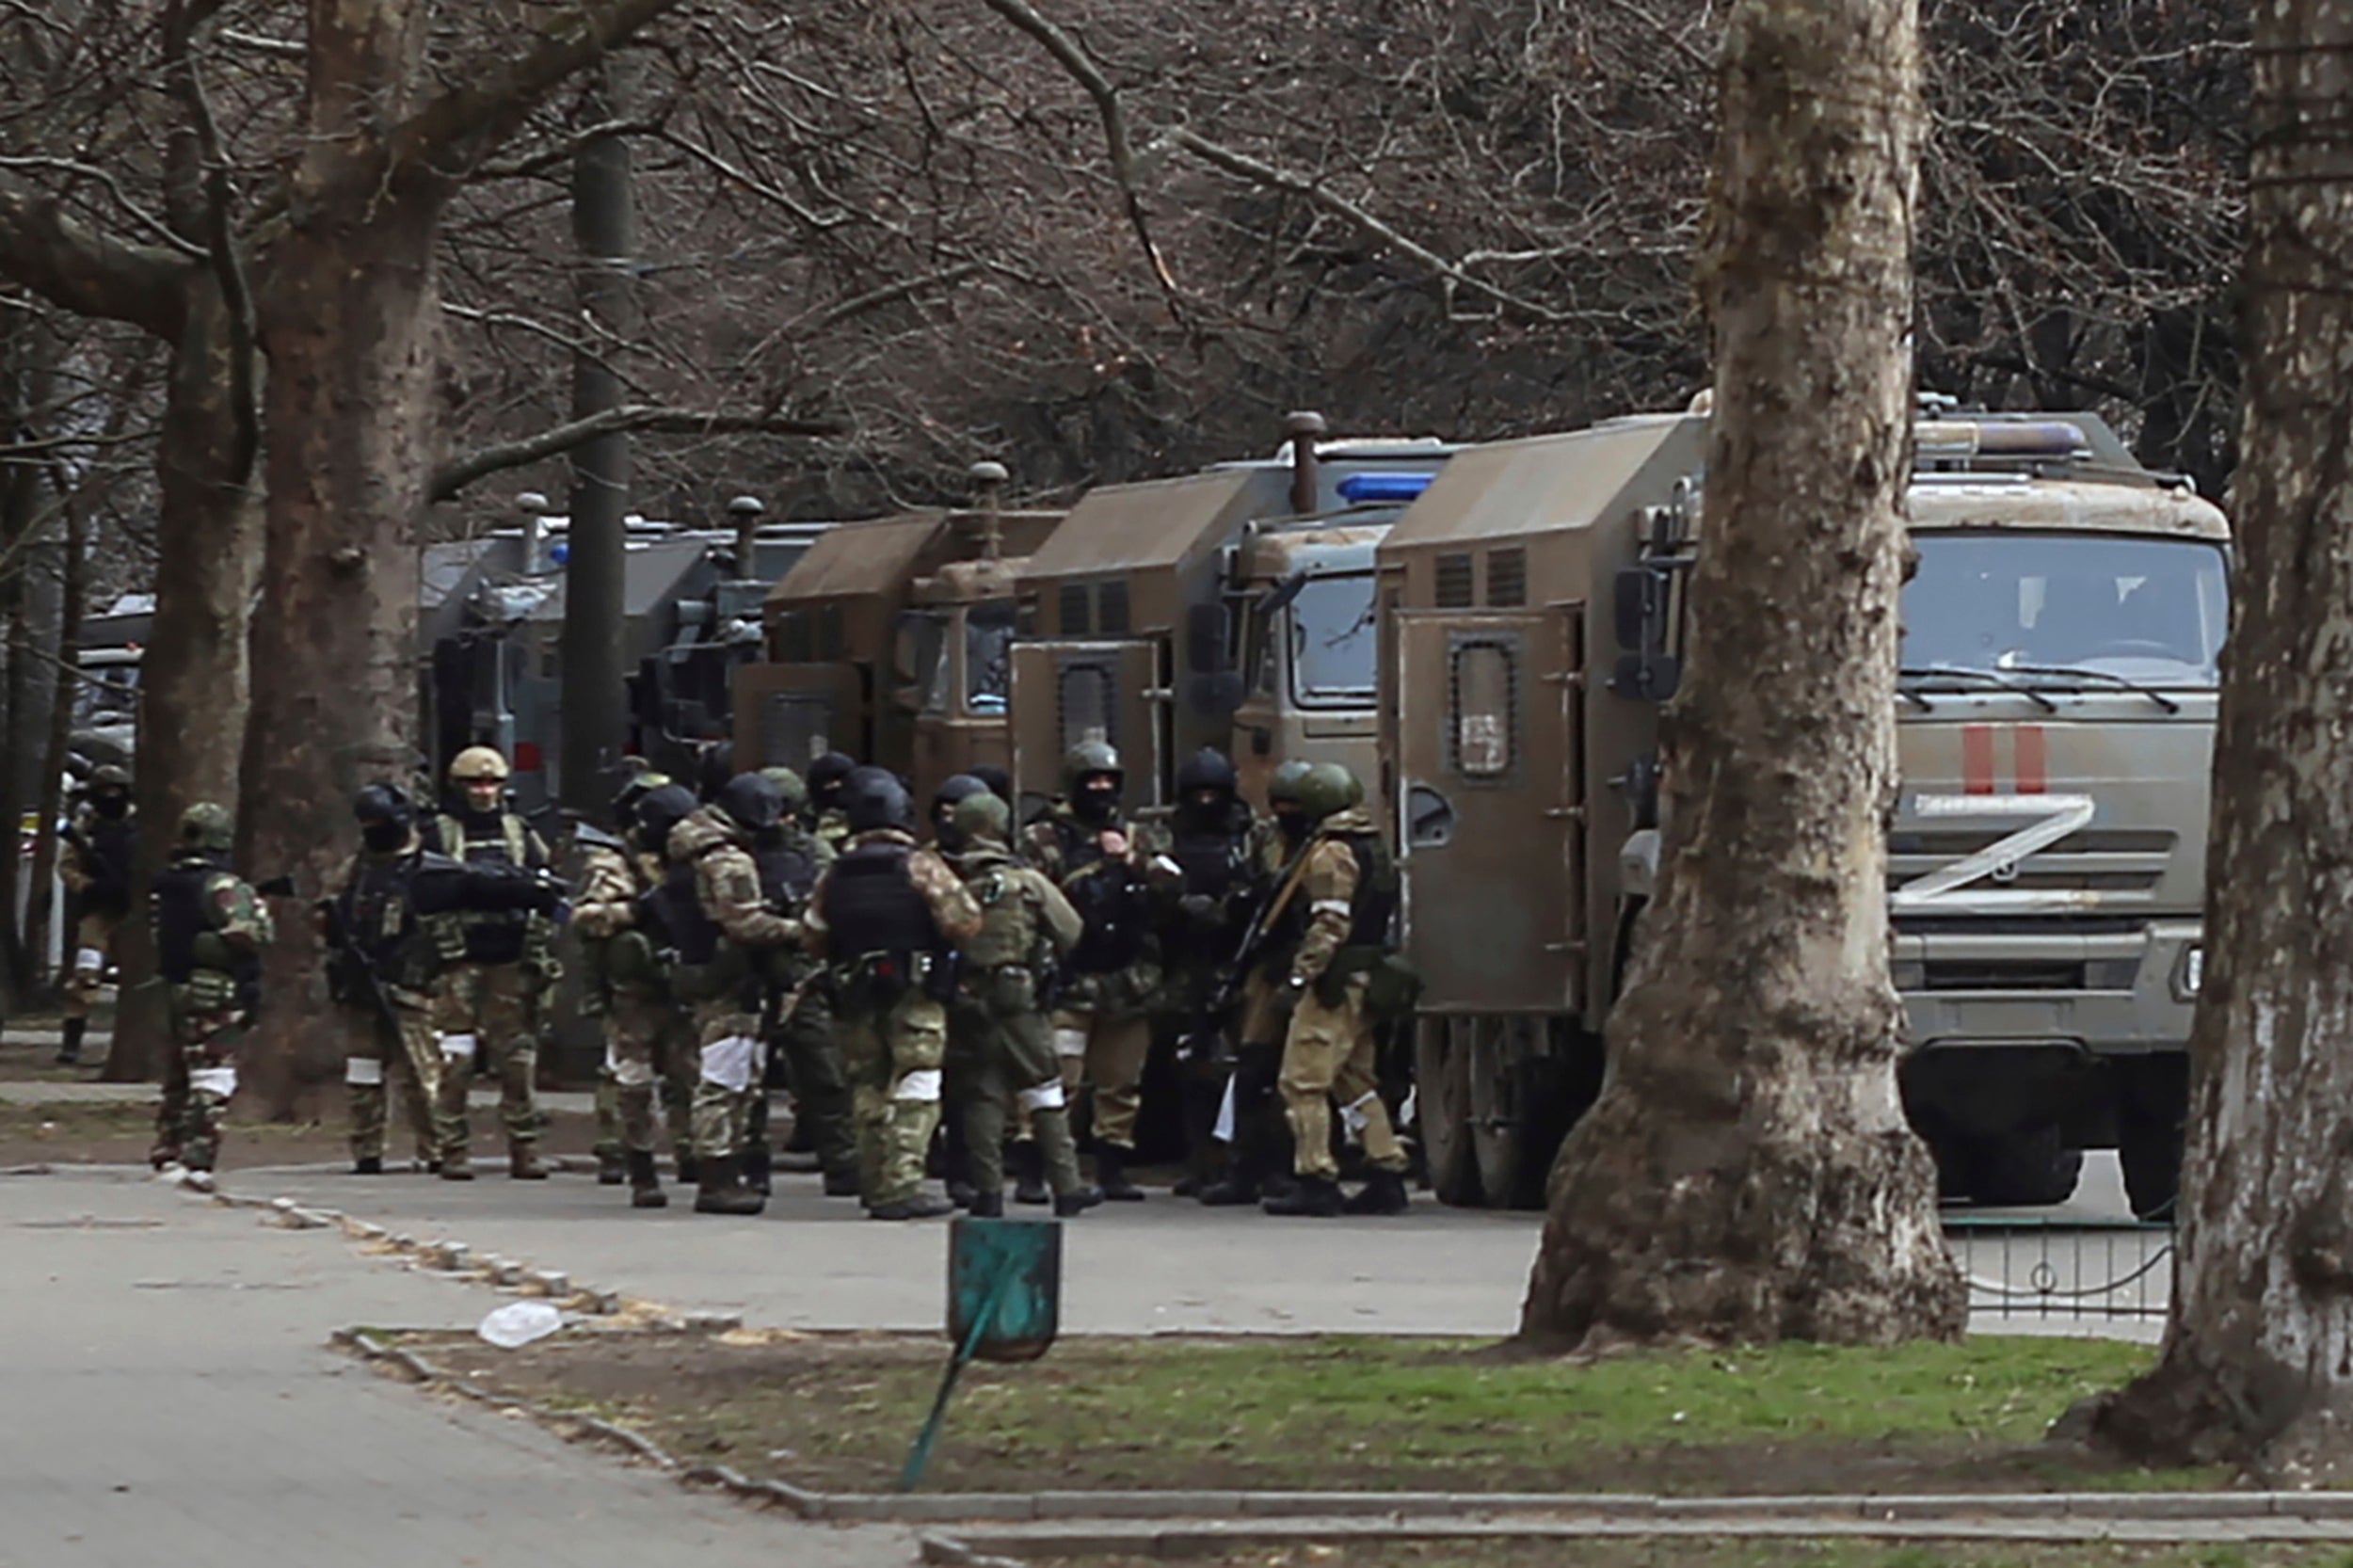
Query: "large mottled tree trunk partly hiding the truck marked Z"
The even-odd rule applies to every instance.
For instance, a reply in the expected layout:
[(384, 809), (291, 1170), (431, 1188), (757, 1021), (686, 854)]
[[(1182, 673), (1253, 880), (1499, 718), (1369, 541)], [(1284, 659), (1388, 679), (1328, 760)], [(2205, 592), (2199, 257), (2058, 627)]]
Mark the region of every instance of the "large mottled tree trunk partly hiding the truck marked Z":
[(1913, 0), (1729, 16), (1715, 426), (1666, 864), (1522, 1340), (1955, 1337), (1897, 1099), (1885, 819), (1911, 443)]

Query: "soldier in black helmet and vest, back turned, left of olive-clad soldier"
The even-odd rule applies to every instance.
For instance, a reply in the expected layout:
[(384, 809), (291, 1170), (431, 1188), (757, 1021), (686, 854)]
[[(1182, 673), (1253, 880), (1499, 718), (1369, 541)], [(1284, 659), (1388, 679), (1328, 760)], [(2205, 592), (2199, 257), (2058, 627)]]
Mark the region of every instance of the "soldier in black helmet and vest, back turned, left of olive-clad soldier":
[(939, 1128), (953, 954), (979, 935), (981, 909), (948, 862), (915, 845), (913, 803), (889, 772), (852, 772), (842, 815), (854, 838), (816, 883), (807, 930), (838, 984), (866, 1212), (927, 1220), (955, 1210), (922, 1191), (922, 1170)]

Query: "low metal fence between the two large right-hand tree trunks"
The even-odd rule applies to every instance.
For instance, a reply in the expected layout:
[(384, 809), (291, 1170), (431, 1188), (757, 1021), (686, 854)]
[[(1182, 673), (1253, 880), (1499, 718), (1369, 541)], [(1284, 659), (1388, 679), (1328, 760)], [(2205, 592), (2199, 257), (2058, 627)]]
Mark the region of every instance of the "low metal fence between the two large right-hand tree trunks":
[(2172, 1300), (2172, 1224), (1946, 1217), (1944, 1238), (1972, 1316), (2162, 1318)]

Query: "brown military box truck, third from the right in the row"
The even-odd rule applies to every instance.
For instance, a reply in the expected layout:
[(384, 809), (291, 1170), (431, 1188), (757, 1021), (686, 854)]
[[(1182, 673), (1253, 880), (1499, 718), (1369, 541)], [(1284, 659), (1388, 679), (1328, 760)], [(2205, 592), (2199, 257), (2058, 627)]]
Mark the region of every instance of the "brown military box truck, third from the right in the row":
[(739, 765), (845, 751), (906, 775), (918, 800), (1009, 768), (1014, 574), (1064, 513), (1000, 511), (1005, 471), (976, 478), (976, 509), (838, 525), (767, 593), (767, 659), (734, 676)]

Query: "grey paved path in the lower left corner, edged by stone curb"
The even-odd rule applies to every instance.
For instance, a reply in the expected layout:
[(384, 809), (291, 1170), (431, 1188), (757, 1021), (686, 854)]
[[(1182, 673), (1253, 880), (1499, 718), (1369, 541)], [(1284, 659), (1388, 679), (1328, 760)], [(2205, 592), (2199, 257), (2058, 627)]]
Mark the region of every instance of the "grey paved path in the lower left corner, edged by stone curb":
[(899, 1568), (913, 1537), (696, 1497), (325, 1349), (480, 1288), (153, 1182), (0, 1180), (0, 1568)]

